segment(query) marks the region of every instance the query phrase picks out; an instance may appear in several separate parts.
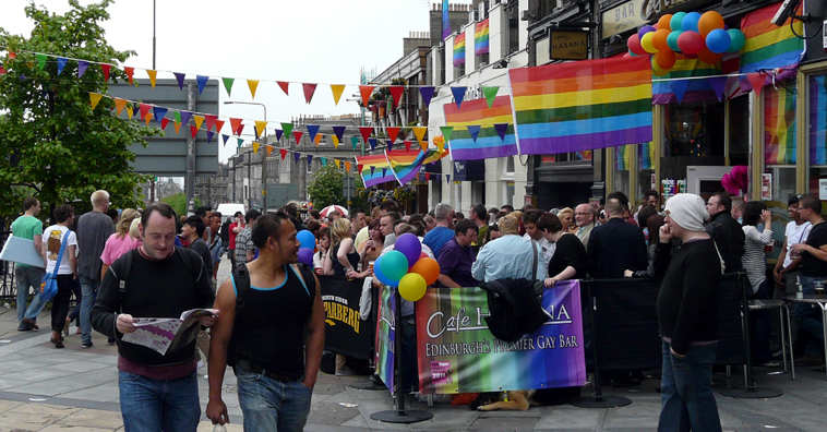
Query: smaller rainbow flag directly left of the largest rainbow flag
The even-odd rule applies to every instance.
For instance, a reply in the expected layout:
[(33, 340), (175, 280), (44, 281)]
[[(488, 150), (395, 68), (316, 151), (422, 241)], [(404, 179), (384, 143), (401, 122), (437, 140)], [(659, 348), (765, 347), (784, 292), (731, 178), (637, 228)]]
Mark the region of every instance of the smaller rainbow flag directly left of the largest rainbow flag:
[[(474, 99), (456, 104), (445, 104), (445, 124), (454, 127), (451, 134), (451, 155), (456, 160), (488, 159), (516, 155), (517, 137), (514, 134), (511, 96), (498, 96), (491, 108), (486, 99)], [(501, 139), (494, 124), (507, 123), (505, 139)], [(475, 142), (468, 127), (479, 125), (480, 132)]]

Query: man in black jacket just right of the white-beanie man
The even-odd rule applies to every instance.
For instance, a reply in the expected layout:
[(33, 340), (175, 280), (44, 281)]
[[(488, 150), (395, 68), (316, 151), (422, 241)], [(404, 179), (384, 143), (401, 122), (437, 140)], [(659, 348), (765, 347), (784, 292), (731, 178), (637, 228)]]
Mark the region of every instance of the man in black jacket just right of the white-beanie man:
[(715, 240), (727, 273), (735, 273), (742, 268), (741, 256), (744, 254), (744, 230), (732, 217), (732, 199), (727, 192), (718, 192), (709, 197), (706, 204), (709, 213), (709, 224), (706, 232)]

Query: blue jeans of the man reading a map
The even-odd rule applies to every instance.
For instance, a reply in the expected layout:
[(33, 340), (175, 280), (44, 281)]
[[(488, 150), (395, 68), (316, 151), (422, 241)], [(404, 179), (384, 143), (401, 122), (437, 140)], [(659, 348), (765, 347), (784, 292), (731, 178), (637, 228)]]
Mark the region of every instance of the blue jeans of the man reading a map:
[(118, 372), (125, 432), (195, 432), (201, 420), (197, 371), (159, 381)]

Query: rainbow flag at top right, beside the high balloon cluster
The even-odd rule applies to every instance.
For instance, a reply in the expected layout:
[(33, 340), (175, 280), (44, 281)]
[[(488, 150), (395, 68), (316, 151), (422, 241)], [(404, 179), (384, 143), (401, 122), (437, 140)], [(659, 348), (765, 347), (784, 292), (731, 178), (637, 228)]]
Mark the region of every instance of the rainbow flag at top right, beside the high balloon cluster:
[[(750, 12), (741, 20), (741, 31), (746, 36), (746, 43), (741, 49), (741, 73), (753, 73), (762, 69), (792, 68), (799, 64), (804, 58), (804, 40), (795, 37), (790, 29), (788, 19), (784, 25), (778, 26), (770, 21), (778, 12), (781, 2), (770, 4), (757, 11)], [(801, 15), (801, 7), (795, 13)], [(804, 34), (804, 23), (795, 20), (792, 24), (795, 33)], [(794, 76), (791, 75), (776, 77), (776, 80), (786, 80)], [(767, 76), (768, 83), (771, 77)]]

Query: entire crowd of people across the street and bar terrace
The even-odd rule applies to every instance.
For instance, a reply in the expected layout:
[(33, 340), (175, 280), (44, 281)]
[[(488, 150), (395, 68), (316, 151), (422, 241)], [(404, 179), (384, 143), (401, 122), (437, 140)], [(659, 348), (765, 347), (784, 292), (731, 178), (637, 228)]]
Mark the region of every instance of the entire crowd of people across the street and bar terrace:
[[(417, 236), (422, 251), (438, 261), (438, 287), (478, 287), (504, 278), (541, 280), (548, 289), (586, 277), (659, 280), (661, 421), (687, 422), (698, 430), (720, 430), (711, 415), (717, 409), (710, 374), (720, 337), (716, 287), (721, 274), (744, 272), (754, 299), (780, 299), (795, 290), (813, 296), (827, 276), (827, 225), (820, 201), (808, 195), (789, 201), (791, 221), (771, 277), (766, 266), (766, 250), (772, 245), (769, 211), (762, 202), (726, 193), (708, 201), (679, 194), (663, 208), (657, 191), (647, 192), (637, 207), (621, 192), (601, 205), (549, 212), (477, 204), (467, 217), (445, 203), (427, 214), (404, 215), (392, 200), (371, 212), (332, 211), (325, 217), (317, 211), (302, 217), (298, 203), (290, 202), (269, 214), (221, 215), (202, 207), (180, 219), (166, 204), (111, 212), (106, 191), (93, 193), (91, 203), (93, 211), (77, 219), (72, 206), (57, 206), (55, 224), (44, 229), (37, 199), (23, 202), (24, 214), (12, 231), (33, 240), (44, 267), (15, 267), (19, 329), (38, 328), (45, 302), (35, 295), (26, 307), (29, 289), (37, 292), (44, 276), (58, 268), (51, 343), (62, 348), (76, 319), (82, 347), (92, 347), (93, 328), (118, 344), (128, 431), (194, 430), (200, 363), (208, 368), (207, 416), (214, 422), (228, 420), (220, 388), (229, 365), (239, 376), (245, 424), (300, 430), (324, 346), (317, 276), (371, 277), (373, 263), (403, 233)], [(316, 239), (312, 268), (296, 265), (302, 230)], [(232, 276), (216, 280), (225, 253)], [(710, 271), (716, 267), (721, 271)], [(72, 295), (79, 307), (70, 311)], [(201, 319), (202, 331), (192, 344), (160, 355), (121, 340), (137, 328), (135, 317), (177, 317), (194, 308), (212, 315)], [(416, 359), (413, 303), (403, 301), (400, 315), (400, 355)], [(758, 363), (772, 362), (781, 350), (775, 322), (767, 312), (755, 312), (752, 320), (751, 349)], [(795, 324), (799, 353), (822, 364), (819, 311), (796, 307)], [(338, 356), (336, 374), (351, 373)], [(416, 386), (416, 361), (404, 362), (401, 373), (406, 384)]]

